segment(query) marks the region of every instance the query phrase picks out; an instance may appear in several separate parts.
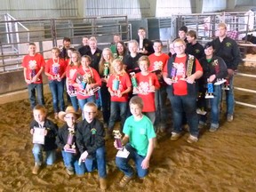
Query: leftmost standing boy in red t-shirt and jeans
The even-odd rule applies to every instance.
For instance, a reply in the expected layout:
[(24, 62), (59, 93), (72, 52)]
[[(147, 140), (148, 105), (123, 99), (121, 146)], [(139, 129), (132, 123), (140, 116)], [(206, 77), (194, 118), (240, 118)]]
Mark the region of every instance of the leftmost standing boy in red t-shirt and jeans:
[(44, 106), (42, 78), (44, 65), (44, 57), (40, 53), (36, 53), (36, 44), (28, 44), (28, 55), (23, 58), (22, 67), (24, 68), (25, 82), (28, 84), (28, 98), (32, 109), (36, 106), (36, 93), (38, 103)]

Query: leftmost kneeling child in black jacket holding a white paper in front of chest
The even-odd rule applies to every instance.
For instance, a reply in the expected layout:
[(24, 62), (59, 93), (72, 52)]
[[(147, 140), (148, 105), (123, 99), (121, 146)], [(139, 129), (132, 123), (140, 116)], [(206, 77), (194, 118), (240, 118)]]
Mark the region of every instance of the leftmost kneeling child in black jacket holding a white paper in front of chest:
[[(45, 163), (47, 165), (52, 165), (55, 161), (55, 150), (57, 148), (55, 138), (58, 132), (58, 126), (46, 118), (46, 108), (42, 105), (36, 105), (33, 109), (33, 115), (34, 120), (30, 124), (30, 133), (33, 134), (34, 147), (32, 152), (35, 158), (35, 166), (32, 173), (38, 174), (43, 161), (43, 150), (45, 151)], [(39, 139), (41, 141), (43, 139), (44, 142), (39, 143), (36, 142), (36, 139), (38, 139), (36, 132), (40, 132), (40, 129), (44, 132), (44, 137), (39, 136)]]

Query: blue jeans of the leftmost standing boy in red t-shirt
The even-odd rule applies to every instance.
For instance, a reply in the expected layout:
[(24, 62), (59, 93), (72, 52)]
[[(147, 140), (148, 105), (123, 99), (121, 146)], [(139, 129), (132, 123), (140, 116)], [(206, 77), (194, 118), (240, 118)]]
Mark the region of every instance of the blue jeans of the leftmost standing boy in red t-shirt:
[(30, 107), (32, 109), (35, 108), (36, 106), (36, 94), (37, 94), (38, 103), (44, 106), (43, 84), (28, 84), (28, 98), (30, 101)]

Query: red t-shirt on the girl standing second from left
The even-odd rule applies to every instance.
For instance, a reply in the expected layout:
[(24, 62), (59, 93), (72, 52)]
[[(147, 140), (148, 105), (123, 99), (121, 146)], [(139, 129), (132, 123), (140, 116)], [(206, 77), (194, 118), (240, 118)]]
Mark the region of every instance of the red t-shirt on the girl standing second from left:
[[(54, 60), (50, 59), (46, 61), (44, 71), (52, 76), (62, 76), (66, 70), (66, 62), (63, 59)], [(48, 76), (49, 80), (52, 80), (51, 76)], [(53, 79), (54, 80), (54, 79)]]

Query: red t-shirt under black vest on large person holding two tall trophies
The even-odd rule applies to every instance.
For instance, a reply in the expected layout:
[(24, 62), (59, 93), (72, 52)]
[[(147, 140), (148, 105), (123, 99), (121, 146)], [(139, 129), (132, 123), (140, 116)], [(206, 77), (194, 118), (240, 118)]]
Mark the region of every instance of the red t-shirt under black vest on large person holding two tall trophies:
[[(180, 78), (184, 77), (186, 75), (186, 62), (187, 62), (187, 56), (178, 58), (175, 57), (175, 60), (173, 62), (173, 65), (177, 68), (176, 76), (178, 77), (178, 82), (173, 83), (173, 94), (174, 95), (187, 95), (188, 94), (188, 87), (187, 87), (187, 81), (180, 80)], [(203, 68), (201, 67), (199, 61), (195, 58), (196, 63), (196, 71), (203, 71)], [(164, 72), (168, 73), (167, 65), (165, 65)]]

